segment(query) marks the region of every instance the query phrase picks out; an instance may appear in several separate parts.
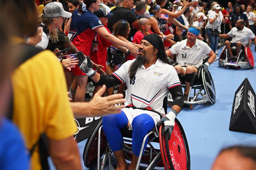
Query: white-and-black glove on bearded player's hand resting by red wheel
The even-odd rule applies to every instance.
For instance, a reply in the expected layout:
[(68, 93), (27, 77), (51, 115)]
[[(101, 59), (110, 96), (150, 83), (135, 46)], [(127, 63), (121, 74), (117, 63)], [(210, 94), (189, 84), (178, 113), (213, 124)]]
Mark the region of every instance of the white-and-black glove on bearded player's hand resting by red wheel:
[(162, 119), (160, 119), (160, 121), (156, 124), (156, 127), (160, 127), (160, 125), (164, 124), (161, 135), (167, 135), (168, 139), (170, 139), (172, 135), (172, 131), (175, 125), (176, 113), (177, 112), (172, 109), (168, 114), (164, 115), (164, 117), (162, 117)]

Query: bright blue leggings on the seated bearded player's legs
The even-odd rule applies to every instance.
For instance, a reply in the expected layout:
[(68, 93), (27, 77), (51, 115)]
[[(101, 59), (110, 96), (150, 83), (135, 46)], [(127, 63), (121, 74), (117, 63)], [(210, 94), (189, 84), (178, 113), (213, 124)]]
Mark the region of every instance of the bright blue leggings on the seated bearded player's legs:
[[(123, 148), (123, 137), (120, 129), (127, 127), (128, 119), (124, 112), (119, 114), (108, 115), (103, 117), (103, 130), (107, 137), (108, 143), (112, 151), (122, 150)], [(136, 156), (140, 154), (140, 148), (142, 141), (146, 134), (155, 127), (154, 120), (147, 114), (141, 114), (136, 116), (132, 121), (132, 150)], [(144, 150), (146, 149), (146, 144)], [(143, 150), (143, 152), (144, 152)]]

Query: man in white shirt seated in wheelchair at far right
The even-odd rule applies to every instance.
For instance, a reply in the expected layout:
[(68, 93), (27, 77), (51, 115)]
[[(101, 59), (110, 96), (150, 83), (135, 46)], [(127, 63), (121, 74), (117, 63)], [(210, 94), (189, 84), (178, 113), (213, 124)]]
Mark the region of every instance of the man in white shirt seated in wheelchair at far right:
[[(254, 44), (256, 44), (255, 35), (249, 28), (244, 26), (244, 20), (237, 20), (236, 27), (233, 27), (227, 34), (220, 34), (222, 38), (232, 37), (232, 40), (229, 42), (225, 41), (226, 47), (228, 49), (228, 53), (230, 57), (233, 57), (231, 48), (236, 47), (236, 58), (239, 55), (240, 50), (242, 49), (242, 45), (248, 45), (250, 39), (254, 40)], [(249, 44), (250, 46), (250, 44)]]

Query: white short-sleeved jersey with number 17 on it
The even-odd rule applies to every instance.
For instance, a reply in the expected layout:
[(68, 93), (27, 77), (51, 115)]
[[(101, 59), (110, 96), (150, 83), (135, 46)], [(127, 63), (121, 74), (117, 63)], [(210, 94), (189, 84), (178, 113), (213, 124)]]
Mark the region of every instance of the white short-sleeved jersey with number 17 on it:
[(188, 47), (187, 39), (174, 44), (170, 49), (172, 55), (176, 54), (176, 62), (181, 66), (195, 66), (199, 67), (203, 64), (203, 55), (209, 55), (212, 49), (199, 39), (196, 39), (196, 43), (192, 48)]

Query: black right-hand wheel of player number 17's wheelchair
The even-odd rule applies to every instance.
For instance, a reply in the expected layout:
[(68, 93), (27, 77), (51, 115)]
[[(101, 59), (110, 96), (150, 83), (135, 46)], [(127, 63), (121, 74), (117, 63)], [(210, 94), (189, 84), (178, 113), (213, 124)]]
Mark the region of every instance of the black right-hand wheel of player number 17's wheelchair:
[(210, 74), (208, 69), (202, 69), (200, 74), (203, 80), (206, 95), (208, 96), (210, 103), (214, 104), (216, 102), (216, 92), (214, 82), (212, 80), (212, 75)]

